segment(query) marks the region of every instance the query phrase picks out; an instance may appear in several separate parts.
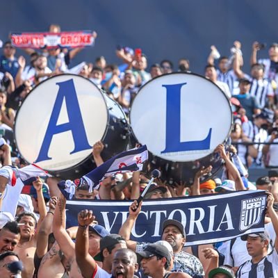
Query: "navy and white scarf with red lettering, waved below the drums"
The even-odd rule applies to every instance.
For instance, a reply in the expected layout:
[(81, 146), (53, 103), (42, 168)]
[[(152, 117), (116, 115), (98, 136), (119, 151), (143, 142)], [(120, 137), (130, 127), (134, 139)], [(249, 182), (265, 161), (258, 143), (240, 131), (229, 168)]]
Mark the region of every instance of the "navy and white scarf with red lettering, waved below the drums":
[(76, 187), (88, 186), (89, 192), (99, 188), (99, 183), (106, 177), (112, 177), (117, 173), (142, 170), (143, 163), (148, 159), (147, 146), (129, 149), (108, 159), (99, 167), (85, 174), (81, 179), (74, 181), (60, 181), (58, 187), (67, 199), (72, 199)]

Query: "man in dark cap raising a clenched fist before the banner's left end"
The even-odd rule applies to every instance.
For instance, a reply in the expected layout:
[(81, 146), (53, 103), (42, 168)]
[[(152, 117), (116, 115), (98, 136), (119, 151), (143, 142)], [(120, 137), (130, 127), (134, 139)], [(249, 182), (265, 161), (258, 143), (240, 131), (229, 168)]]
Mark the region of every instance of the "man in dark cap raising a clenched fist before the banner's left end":
[[(126, 248), (126, 241), (118, 234), (110, 234), (101, 238), (100, 252), (94, 258), (89, 254), (89, 225), (95, 220), (92, 211), (81, 211), (78, 215), (79, 229), (76, 234), (75, 254), (84, 278), (111, 277), (114, 254), (117, 250)], [(96, 261), (102, 261), (100, 268)], [(123, 276), (122, 276), (123, 277)]]

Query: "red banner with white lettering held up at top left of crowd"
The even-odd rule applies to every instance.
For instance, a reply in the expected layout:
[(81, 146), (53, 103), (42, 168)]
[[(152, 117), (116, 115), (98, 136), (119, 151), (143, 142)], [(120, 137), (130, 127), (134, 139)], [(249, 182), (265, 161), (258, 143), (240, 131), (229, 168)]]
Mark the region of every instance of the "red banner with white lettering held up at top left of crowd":
[(92, 31), (61, 33), (13, 33), (12, 44), (20, 48), (88, 47), (95, 42)]

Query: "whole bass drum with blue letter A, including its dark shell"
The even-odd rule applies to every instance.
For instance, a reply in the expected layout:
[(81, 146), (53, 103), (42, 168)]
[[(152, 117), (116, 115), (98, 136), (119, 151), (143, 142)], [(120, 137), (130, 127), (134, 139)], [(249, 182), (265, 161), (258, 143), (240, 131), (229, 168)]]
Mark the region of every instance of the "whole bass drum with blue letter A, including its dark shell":
[(92, 145), (104, 161), (126, 149), (129, 124), (122, 108), (90, 80), (62, 74), (43, 81), (17, 111), (15, 140), (28, 163), (75, 179), (95, 167)]

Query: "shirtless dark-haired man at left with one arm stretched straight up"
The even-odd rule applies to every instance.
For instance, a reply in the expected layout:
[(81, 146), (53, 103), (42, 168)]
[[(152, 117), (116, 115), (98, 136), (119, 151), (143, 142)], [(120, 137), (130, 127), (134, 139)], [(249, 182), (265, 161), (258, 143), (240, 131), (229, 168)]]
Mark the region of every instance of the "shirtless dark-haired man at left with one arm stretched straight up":
[[(33, 277), (34, 267), (34, 256), (35, 249), (37, 247), (37, 235), (36, 231), (39, 230), (40, 224), (44, 217), (47, 215), (47, 208), (44, 203), (42, 195), (42, 181), (38, 178), (36, 181), (33, 181), (33, 186), (38, 194), (38, 206), (40, 219), (37, 221), (33, 213), (21, 213), (17, 217), (17, 222), (19, 223), (20, 228), (20, 240), (15, 248), (15, 252), (18, 254), (19, 259), (24, 264), (24, 270), (22, 271), (22, 278)], [(37, 230), (36, 230), (37, 228)]]

